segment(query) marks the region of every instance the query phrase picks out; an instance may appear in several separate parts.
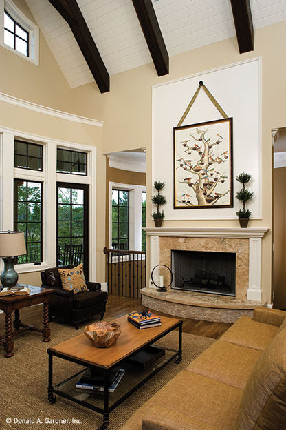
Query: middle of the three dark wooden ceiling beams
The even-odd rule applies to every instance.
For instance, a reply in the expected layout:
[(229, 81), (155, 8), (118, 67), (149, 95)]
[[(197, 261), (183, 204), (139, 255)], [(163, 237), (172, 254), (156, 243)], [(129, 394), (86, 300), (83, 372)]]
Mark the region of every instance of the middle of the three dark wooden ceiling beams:
[(132, 0), (158, 76), (169, 73), (169, 56), (151, 0)]

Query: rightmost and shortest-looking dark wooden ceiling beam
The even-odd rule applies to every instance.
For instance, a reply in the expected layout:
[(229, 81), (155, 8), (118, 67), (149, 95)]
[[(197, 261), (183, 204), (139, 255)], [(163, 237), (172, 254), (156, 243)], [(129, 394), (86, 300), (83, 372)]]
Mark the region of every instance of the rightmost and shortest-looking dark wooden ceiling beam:
[(236, 38), (239, 43), (239, 53), (254, 50), (254, 31), (250, 0), (230, 0), (232, 14), (236, 30)]

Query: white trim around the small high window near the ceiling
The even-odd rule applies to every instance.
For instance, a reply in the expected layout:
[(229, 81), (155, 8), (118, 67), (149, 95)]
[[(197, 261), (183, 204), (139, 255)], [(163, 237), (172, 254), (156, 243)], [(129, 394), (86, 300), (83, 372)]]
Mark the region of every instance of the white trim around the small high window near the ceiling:
[[(4, 10), (29, 33), (29, 57), (4, 43)], [(19, 57), (39, 65), (39, 27), (30, 21), (12, 0), (0, 0), (0, 45)]]

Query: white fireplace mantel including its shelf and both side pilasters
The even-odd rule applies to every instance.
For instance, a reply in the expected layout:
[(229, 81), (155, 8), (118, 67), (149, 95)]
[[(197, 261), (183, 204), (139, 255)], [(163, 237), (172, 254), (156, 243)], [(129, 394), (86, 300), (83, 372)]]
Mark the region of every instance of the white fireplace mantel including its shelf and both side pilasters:
[[(241, 227), (146, 227), (150, 237), (150, 270), (160, 264), (160, 237), (170, 238), (234, 238), (249, 243), (248, 286), (245, 299), (261, 301), (261, 239), (268, 228)], [(162, 239), (163, 240), (163, 239)], [(178, 239), (180, 240), (180, 239)], [(162, 262), (161, 262), (162, 263)], [(149, 284), (152, 287), (151, 283)]]

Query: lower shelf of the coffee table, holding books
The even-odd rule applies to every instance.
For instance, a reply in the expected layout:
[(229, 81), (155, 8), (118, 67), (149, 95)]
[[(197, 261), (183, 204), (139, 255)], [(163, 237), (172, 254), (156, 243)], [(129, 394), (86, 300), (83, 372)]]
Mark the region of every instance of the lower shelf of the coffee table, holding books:
[[(109, 407), (107, 409), (104, 408), (104, 391), (89, 391), (76, 388), (76, 382), (78, 382), (80, 376), (82, 376), (83, 372), (87, 369), (86, 367), (70, 378), (54, 385), (49, 391), (49, 400), (51, 403), (56, 402), (56, 396), (53, 395), (54, 393), (101, 413), (102, 415), (110, 413), (137, 389), (148, 382), (158, 371), (168, 365), (169, 362), (173, 360), (179, 362), (179, 360), (176, 360), (178, 356), (179, 351), (165, 349), (165, 355), (147, 369), (140, 369), (134, 365), (122, 362), (120, 368), (124, 369), (125, 373), (114, 393), (108, 393)], [(107, 426), (107, 423), (102, 424), (102, 426), (98, 427), (98, 430), (107, 429)]]

